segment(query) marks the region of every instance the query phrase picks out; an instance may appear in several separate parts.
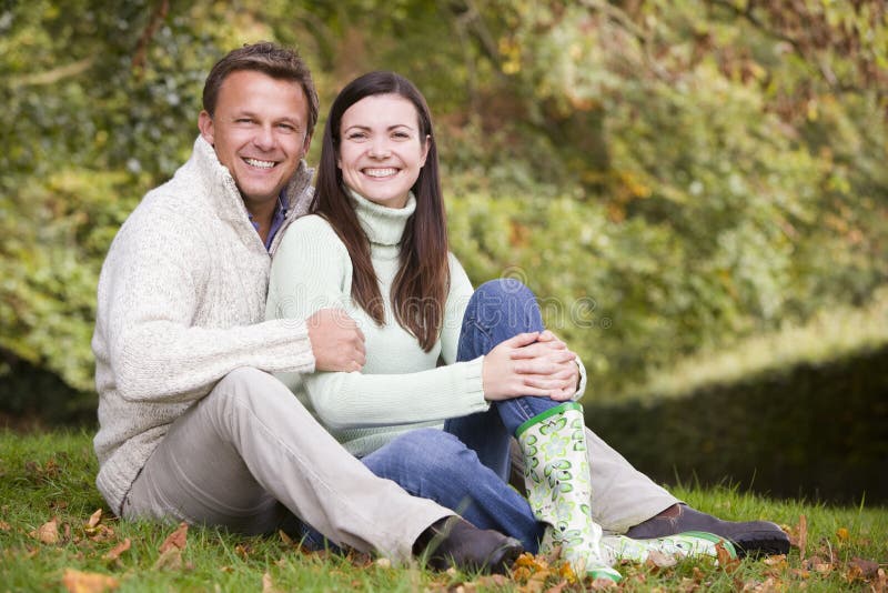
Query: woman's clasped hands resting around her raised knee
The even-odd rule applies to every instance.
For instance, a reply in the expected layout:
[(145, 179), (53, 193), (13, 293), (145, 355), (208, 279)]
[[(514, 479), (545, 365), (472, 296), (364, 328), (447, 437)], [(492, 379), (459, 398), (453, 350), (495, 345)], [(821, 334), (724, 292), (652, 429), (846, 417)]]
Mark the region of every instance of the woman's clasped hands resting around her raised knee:
[(523, 395), (567, 401), (576, 393), (576, 354), (549, 331), (521, 333), (484, 356), (482, 382), (488, 401)]

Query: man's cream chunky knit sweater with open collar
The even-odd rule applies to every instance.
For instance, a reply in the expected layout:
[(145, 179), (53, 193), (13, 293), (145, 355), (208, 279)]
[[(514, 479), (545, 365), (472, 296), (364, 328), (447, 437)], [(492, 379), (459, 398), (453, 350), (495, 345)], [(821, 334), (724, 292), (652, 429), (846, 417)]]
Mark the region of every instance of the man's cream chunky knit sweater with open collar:
[[(311, 177), (302, 162), (272, 252), (307, 210)], [(95, 483), (114, 512), (170, 424), (225, 374), (314, 370), (304, 321), (263, 321), (270, 267), (234, 180), (199, 137), (121, 227), (99, 279)]]

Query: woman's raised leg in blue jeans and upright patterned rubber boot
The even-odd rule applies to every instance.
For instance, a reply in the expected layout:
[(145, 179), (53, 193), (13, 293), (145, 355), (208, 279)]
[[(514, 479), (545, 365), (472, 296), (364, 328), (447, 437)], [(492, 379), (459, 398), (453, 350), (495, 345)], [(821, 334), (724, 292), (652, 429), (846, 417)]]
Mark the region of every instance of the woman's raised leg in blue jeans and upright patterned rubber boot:
[[(472, 360), (518, 333), (543, 330), (539, 306), (527, 287), (512, 279), (486, 282), (466, 308), (457, 359)], [(478, 451), (484, 464), (503, 480), (508, 475), (511, 438), (517, 436), (531, 507), (548, 525), (544, 549), (559, 545), (576, 571), (619, 580), (619, 573), (606, 565), (602, 529), (592, 520), (582, 406), (548, 398), (515, 398), (496, 402), (484, 414), (452, 420), (445, 430)]]

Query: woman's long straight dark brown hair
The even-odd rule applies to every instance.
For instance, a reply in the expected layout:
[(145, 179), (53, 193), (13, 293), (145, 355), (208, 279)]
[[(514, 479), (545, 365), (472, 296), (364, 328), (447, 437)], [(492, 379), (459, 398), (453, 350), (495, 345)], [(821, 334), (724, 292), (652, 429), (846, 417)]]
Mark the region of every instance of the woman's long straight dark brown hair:
[(311, 211), (326, 219), (349, 250), (353, 270), (352, 299), (373, 321), (384, 324), (384, 301), (370, 259), (370, 240), (357, 221), (342, 171), (336, 165), (343, 113), (357, 101), (375, 94), (397, 94), (413, 103), (421, 141), (428, 143), (425, 165), (412, 188), (416, 210), (404, 228), (400, 269), (391, 294), (395, 321), (428, 352), (441, 333), (444, 302), (450, 290), (447, 221), (441, 195), (432, 115), (422, 93), (411, 81), (394, 72), (371, 72), (353, 80), (340, 92), (330, 108), (324, 128)]

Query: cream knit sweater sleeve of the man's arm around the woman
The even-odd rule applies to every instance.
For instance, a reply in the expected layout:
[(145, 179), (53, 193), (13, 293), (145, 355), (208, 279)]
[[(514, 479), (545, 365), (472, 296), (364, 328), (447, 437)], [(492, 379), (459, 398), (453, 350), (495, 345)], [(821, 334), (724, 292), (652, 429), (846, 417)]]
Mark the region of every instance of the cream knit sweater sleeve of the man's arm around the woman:
[(251, 296), (252, 289), (204, 294), (211, 290), (204, 282), (206, 238), (183, 229), (175, 217), (160, 223), (152, 215), (158, 212), (149, 209), (124, 224), (102, 271), (93, 348), (98, 363), (111, 369), (103, 374), (113, 384), (98, 384), (100, 392), (114, 388), (128, 401), (186, 402), (239, 366), (313, 370), (301, 320), (196, 326), (193, 320), (204, 308), (246, 306), (234, 301)]

